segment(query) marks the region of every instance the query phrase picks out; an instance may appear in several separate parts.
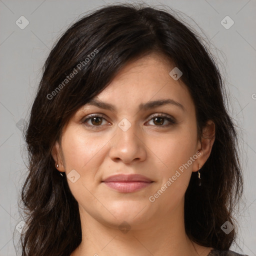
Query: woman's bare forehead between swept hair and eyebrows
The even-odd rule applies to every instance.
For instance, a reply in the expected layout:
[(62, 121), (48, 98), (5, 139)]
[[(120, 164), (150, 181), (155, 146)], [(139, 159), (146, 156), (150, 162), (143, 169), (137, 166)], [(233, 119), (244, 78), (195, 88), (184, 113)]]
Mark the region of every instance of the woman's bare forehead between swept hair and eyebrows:
[(155, 53), (131, 60), (94, 99), (111, 105), (137, 105), (139, 108), (147, 101), (172, 99), (189, 108), (193, 103), (186, 85), (169, 75), (174, 67), (163, 55)]

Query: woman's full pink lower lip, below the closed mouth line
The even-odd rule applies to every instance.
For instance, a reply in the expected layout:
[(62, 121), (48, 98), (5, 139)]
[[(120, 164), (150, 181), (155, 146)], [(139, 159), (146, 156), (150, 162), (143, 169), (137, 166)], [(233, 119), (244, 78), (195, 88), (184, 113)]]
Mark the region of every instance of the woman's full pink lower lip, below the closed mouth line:
[(133, 181), (133, 182), (104, 182), (107, 186), (122, 192), (131, 193), (149, 186), (152, 182)]

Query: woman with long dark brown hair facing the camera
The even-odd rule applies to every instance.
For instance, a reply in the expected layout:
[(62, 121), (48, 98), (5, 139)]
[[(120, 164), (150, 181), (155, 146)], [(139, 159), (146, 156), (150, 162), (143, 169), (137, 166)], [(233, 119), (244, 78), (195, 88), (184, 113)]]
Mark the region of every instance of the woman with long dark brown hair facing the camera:
[(240, 255), (224, 97), (213, 57), (166, 11), (110, 5), (73, 24), (26, 130), (22, 255)]

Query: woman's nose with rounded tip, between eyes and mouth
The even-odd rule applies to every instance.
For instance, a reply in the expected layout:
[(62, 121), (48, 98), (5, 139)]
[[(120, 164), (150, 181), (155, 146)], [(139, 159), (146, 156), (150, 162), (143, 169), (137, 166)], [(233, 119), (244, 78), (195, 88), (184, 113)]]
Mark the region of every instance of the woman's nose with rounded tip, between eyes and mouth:
[[(122, 126), (122, 124), (124, 125)], [(109, 142), (109, 156), (113, 161), (131, 163), (132, 161), (143, 161), (146, 158), (143, 134), (135, 123), (131, 123), (127, 119), (126, 122), (119, 123), (115, 136)]]

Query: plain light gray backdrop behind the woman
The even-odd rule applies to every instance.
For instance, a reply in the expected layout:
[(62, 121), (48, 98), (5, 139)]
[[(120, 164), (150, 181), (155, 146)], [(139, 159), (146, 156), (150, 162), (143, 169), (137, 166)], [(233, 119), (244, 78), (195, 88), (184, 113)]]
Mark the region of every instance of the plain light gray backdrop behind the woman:
[[(44, 60), (71, 22), (98, 6), (113, 2), (116, 1), (0, 0), (0, 256), (16, 255), (12, 234), (15, 230), (16, 244), (19, 233), (15, 226), (21, 220), (17, 200), (27, 174), (20, 129), (22, 119), (27, 120)], [(197, 31), (199, 27), (202, 29), (201, 35), (208, 38), (211, 51), (218, 58), (231, 101), (229, 113), (240, 135), (244, 173), (244, 195), (237, 213), (239, 236), (231, 249), (256, 255), (256, 1), (145, 2), (165, 4), (184, 12), (186, 22)], [(29, 21), (24, 29), (15, 23), (22, 15)], [(234, 21), (229, 29), (220, 23), (226, 15)], [(230, 20), (224, 22), (230, 24)]]

